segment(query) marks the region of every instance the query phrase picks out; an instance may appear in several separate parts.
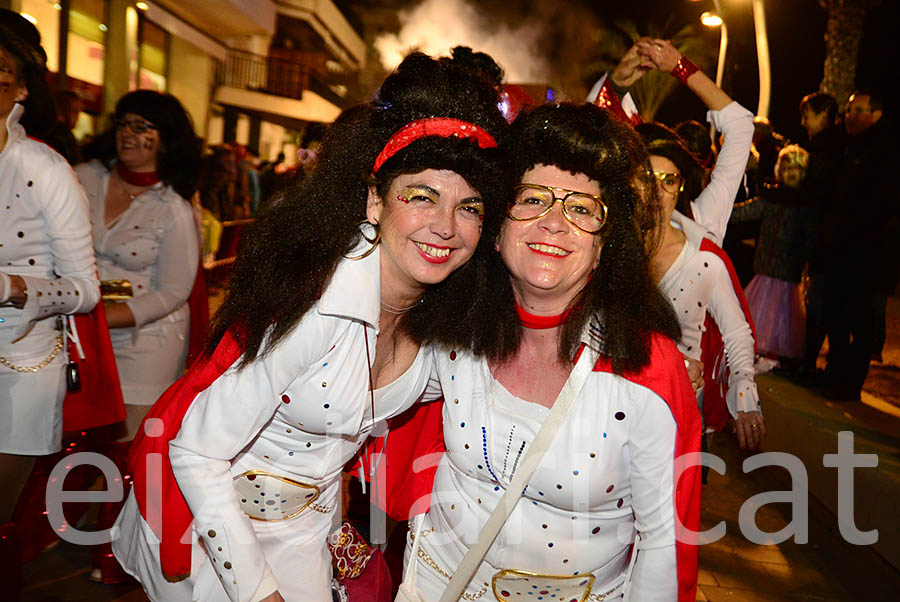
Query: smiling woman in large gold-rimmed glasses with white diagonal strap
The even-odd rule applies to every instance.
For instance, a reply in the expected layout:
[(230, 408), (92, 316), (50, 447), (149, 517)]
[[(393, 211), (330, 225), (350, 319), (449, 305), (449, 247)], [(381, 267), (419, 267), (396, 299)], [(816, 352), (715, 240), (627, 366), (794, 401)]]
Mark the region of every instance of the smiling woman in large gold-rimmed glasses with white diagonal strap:
[(699, 413), (634, 226), (646, 151), (592, 105), (534, 109), (512, 132), (520, 184), (496, 243), (498, 300), (470, 324), (483, 355), (435, 350), (447, 453), (404, 585), (455, 600), (448, 582), (509, 489), (512, 514), (469, 556), (463, 599), (693, 600), (696, 548), (676, 525), (696, 529), (699, 479), (689, 469), (676, 493), (673, 465), (699, 449)]

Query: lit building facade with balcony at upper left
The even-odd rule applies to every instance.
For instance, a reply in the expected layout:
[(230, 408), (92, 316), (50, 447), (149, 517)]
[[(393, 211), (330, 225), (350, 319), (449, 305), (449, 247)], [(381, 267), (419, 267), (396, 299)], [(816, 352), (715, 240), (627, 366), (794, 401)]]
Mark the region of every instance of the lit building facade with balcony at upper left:
[(79, 93), (76, 135), (106, 127), (123, 94), (176, 96), (209, 144), (288, 162), (310, 123), (358, 100), (366, 48), (331, 0), (0, 0), (41, 32), (56, 89)]

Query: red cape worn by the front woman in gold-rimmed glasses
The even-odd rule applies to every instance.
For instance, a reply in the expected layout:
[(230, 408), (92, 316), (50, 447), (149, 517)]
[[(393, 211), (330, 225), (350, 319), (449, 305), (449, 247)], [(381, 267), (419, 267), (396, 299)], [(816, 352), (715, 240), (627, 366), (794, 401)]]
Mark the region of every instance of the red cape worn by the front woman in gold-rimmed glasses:
[[(671, 369), (665, 369), (671, 366)], [(612, 373), (612, 363), (601, 358), (595, 372)], [(675, 344), (654, 336), (651, 367), (636, 374), (626, 374), (631, 382), (646, 387), (662, 397), (675, 418), (674, 459), (700, 452), (700, 413), (691, 389), (684, 357)], [(364, 466), (371, 465), (371, 453), (386, 451), (386, 470), (381, 477), (375, 502), (398, 521), (408, 520), (428, 509), (427, 500), (434, 483), (437, 462), (432, 454), (445, 450), (442, 402), (413, 406), (391, 421), (391, 432), (385, 450), (382, 440), (370, 440), (365, 449)], [(368, 472), (367, 472), (368, 477)], [(381, 481), (379, 479), (379, 481)], [(696, 533), (700, 528), (700, 466), (691, 466), (675, 484), (676, 558), (679, 602), (694, 602), (697, 591)], [(412, 504), (415, 502), (415, 506)]]

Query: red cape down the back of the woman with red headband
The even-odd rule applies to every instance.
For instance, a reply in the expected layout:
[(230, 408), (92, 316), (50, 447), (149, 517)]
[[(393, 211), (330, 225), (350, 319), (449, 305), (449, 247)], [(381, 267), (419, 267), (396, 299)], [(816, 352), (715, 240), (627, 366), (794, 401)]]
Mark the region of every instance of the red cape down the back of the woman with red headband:
[[(226, 333), (212, 356), (194, 362), (187, 374), (162, 394), (144, 418), (131, 445), (128, 467), (134, 477), (135, 498), (141, 516), (159, 538), (162, 571), (169, 581), (184, 579), (191, 573), (189, 529), (193, 521), (172, 472), (169, 441), (178, 435), (184, 415), (197, 395), (240, 356), (237, 340), (230, 332)], [(145, 430), (148, 423), (150, 434)]]

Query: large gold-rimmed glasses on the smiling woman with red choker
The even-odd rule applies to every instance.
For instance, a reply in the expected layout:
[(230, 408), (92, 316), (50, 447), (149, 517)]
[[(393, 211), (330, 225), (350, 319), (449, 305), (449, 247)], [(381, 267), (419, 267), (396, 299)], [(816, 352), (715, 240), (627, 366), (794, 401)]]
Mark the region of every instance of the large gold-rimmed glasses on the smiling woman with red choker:
[[(556, 192), (564, 196), (558, 198)], [(506, 213), (510, 219), (524, 222), (547, 215), (557, 202), (562, 203), (569, 223), (582, 232), (596, 234), (606, 224), (607, 207), (599, 196), (540, 184), (516, 186), (516, 196)]]

